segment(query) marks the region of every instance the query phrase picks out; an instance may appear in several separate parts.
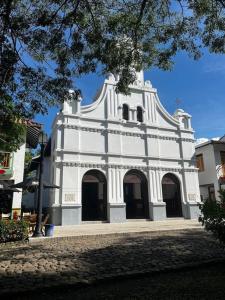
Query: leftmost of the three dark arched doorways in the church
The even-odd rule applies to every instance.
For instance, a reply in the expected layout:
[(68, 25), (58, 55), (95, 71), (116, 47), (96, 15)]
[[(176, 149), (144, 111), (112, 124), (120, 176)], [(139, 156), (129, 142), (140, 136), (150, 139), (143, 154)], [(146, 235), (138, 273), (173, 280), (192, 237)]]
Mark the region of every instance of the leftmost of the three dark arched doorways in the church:
[(82, 179), (82, 221), (107, 220), (107, 183), (98, 170), (86, 172)]

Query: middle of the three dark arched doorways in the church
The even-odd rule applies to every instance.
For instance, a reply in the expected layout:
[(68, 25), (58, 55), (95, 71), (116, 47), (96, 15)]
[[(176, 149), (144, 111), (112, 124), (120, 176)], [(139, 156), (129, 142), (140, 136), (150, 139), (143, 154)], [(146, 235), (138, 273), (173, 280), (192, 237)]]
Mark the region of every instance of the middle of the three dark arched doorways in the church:
[(148, 185), (145, 175), (138, 170), (130, 170), (123, 180), (124, 202), (127, 219), (148, 219)]

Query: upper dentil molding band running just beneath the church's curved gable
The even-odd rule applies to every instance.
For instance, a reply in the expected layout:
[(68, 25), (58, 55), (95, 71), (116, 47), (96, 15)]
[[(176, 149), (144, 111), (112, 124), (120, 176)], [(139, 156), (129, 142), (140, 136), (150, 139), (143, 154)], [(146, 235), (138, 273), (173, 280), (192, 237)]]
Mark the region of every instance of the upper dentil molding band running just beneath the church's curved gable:
[(180, 138), (180, 137), (173, 137), (169, 135), (159, 135), (159, 134), (151, 134), (151, 133), (140, 133), (140, 132), (132, 132), (132, 131), (124, 131), (124, 130), (118, 130), (118, 129), (108, 129), (108, 128), (97, 128), (97, 127), (84, 127), (84, 126), (78, 126), (73, 124), (62, 124), (64, 128), (69, 129), (76, 129), (81, 131), (87, 131), (87, 132), (100, 132), (100, 133), (111, 133), (111, 134), (118, 134), (118, 135), (124, 135), (124, 136), (135, 136), (135, 137), (149, 137), (149, 138), (155, 138), (155, 139), (162, 139), (162, 140), (171, 140), (171, 141), (182, 141), (182, 142), (190, 142), (194, 143), (195, 139), (191, 138)]

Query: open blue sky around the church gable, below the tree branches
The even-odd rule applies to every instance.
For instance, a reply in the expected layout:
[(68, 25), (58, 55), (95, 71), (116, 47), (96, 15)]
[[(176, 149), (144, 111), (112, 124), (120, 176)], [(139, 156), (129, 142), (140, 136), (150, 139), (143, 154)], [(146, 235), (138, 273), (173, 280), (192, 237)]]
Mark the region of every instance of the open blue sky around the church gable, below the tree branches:
[[(176, 99), (181, 100), (179, 107), (192, 115), (196, 138), (214, 138), (225, 134), (225, 55), (204, 52), (198, 61), (179, 53), (172, 71), (145, 71), (145, 80), (150, 80), (158, 90), (160, 101), (169, 113), (176, 110)], [(95, 74), (77, 80), (83, 104), (92, 102), (103, 80)], [(47, 116), (36, 117), (48, 134), (57, 110), (50, 108)]]

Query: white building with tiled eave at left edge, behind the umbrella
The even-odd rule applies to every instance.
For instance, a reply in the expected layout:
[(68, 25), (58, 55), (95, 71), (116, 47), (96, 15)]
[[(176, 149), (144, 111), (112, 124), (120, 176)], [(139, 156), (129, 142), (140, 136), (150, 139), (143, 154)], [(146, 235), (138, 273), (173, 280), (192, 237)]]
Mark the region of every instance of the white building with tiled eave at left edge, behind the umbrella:
[[(16, 152), (0, 151), (0, 184), (5, 181), (9, 185), (23, 181), (24, 159), (26, 147), (35, 148), (38, 142), (41, 125), (33, 121), (25, 121), (26, 134), (24, 143)], [(21, 210), (22, 192), (0, 191), (0, 212), (11, 213)]]

